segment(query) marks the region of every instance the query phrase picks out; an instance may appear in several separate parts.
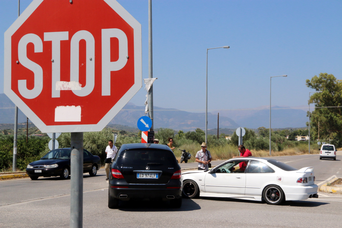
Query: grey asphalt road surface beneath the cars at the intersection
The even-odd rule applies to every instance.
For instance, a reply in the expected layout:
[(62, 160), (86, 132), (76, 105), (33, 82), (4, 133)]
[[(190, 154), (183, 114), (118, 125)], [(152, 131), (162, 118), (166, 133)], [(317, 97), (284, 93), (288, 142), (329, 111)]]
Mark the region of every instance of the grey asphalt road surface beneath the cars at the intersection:
[[(318, 155), (277, 157), (302, 168), (315, 166), (316, 182), (341, 177), (337, 161)], [(218, 161), (220, 162), (220, 161)], [(221, 161), (222, 162), (222, 161)], [(220, 163), (221, 163), (220, 162)], [(186, 165), (197, 166), (197, 163)], [(183, 164), (182, 164), (183, 166)], [(237, 199), (183, 199), (180, 209), (165, 202), (125, 202), (108, 209), (105, 172), (83, 178), (83, 227), (340, 227), (342, 195), (320, 193), (318, 199), (273, 206)], [(21, 178), (0, 181), (0, 227), (69, 227), (70, 179)]]

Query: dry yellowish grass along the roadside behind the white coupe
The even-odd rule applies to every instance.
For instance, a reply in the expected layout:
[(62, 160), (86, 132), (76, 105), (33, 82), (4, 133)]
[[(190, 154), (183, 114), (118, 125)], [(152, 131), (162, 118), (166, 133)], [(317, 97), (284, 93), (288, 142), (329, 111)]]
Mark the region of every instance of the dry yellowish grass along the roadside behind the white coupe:
[[(187, 152), (191, 153), (191, 159), (189, 162), (195, 161), (195, 156), (198, 150), (200, 150), (200, 146), (198, 144), (186, 144), (183, 145), (180, 149), (185, 149)], [(225, 145), (223, 147), (212, 147), (208, 148), (211, 153), (213, 160), (227, 160), (231, 159), (234, 156), (239, 156), (239, 152), (237, 147), (232, 145)], [(181, 151), (179, 148), (173, 150), (174, 154), (178, 161), (181, 160)], [(269, 150), (251, 150), (252, 155), (254, 157), (270, 157)], [(318, 154), (319, 151), (317, 148), (310, 148), (311, 154)], [(284, 149), (283, 151), (271, 151), (271, 157), (274, 156), (291, 156), (291, 155), (305, 155), (309, 153), (308, 145), (299, 145), (298, 147)]]

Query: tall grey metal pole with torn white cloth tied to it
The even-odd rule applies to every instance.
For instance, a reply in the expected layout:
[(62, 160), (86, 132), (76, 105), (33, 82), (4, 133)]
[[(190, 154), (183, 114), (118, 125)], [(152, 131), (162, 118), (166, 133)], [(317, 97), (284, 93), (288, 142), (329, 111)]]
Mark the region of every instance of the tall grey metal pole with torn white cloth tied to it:
[[(152, 65), (152, 0), (148, 0), (148, 78), (153, 78)], [(153, 85), (148, 91), (148, 116), (152, 120), (150, 131), (153, 131)]]

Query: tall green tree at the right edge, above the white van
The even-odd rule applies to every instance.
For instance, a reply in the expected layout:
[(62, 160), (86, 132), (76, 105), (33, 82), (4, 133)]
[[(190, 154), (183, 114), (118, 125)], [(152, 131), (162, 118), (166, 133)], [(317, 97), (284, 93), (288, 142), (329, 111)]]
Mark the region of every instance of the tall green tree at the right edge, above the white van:
[[(342, 80), (337, 80), (333, 75), (320, 73), (306, 80), (307, 87), (321, 93), (311, 95), (309, 103), (315, 107), (342, 106)], [(342, 139), (342, 108), (315, 108), (311, 113), (311, 137), (314, 139), (318, 134), (325, 138)]]

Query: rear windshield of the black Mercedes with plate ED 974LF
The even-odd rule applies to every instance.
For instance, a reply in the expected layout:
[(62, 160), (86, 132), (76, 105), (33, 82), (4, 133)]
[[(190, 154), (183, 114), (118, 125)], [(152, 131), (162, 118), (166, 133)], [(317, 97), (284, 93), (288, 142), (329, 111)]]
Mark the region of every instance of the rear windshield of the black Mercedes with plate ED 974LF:
[(177, 163), (173, 153), (168, 150), (125, 150), (116, 160), (117, 164), (122, 165), (147, 165), (147, 163), (175, 165)]

